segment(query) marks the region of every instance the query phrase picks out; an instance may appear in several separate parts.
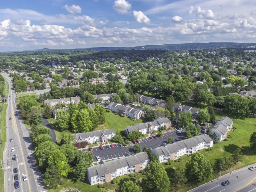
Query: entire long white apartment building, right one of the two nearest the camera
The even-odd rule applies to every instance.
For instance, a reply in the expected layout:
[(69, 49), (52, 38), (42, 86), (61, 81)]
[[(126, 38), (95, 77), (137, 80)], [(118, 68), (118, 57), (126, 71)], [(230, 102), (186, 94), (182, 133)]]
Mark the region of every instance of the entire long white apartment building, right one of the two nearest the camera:
[(199, 135), (166, 146), (152, 149), (157, 154), (159, 162), (175, 160), (183, 155), (195, 153), (201, 149), (212, 147), (213, 140), (208, 135)]

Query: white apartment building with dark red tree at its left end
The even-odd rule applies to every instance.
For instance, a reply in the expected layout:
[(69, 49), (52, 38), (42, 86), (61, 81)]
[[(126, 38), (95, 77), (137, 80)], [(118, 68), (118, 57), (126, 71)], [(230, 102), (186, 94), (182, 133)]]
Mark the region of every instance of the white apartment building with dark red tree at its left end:
[(87, 141), (88, 143), (106, 143), (116, 135), (116, 132), (114, 129), (103, 129), (85, 133), (76, 133), (73, 135), (76, 142)]

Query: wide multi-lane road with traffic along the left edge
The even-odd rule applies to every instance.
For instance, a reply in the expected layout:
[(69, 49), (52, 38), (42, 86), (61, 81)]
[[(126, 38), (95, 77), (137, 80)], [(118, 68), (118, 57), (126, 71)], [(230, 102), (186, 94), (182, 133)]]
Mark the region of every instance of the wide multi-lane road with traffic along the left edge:
[[(2, 73), (1, 73), (2, 74)], [(8, 108), (6, 110), (6, 138), (4, 148), (4, 182), (6, 192), (46, 192), (42, 180), (42, 175), (38, 168), (34, 165), (35, 158), (33, 155), (34, 146), (30, 140), (28, 131), (22, 121), (20, 112), (16, 110), (15, 93), (12, 90), (10, 78), (6, 74), (2, 76), (8, 81), (9, 96)], [(12, 120), (9, 120), (12, 118)], [(13, 142), (10, 139), (13, 139)], [(11, 152), (11, 148), (15, 151)], [(16, 160), (12, 160), (12, 156), (16, 155)], [(14, 189), (14, 168), (18, 169), (18, 182), (20, 187)], [(28, 181), (23, 181), (22, 176), (26, 174)]]

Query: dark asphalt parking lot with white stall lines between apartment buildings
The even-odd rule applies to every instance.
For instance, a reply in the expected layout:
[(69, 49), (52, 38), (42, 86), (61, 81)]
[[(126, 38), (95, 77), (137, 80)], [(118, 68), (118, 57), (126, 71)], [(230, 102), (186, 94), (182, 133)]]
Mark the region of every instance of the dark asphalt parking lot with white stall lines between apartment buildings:
[[(144, 145), (146, 145), (147, 148), (157, 148), (159, 146), (161, 146), (161, 144), (163, 142), (167, 143), (168, 137), (173, 137), (174, 138), (174, 142), (180, 141), (184, 139), (185, 133), (176, 133), (174, 131), (172, 132), (166, 132), (163, 134), (164, 136), (162, 138), (160, 137), (156, 137), (155, 139), (150, 139), (148, 138), (144, 138), (140, 140), (140, 146), (141, 148), (144, 147)], [(107, 148), (106, 146), (103, 146), (103, 149), (101, 150), (99, 148), (99, 146), (97, 147), (92, 147), (92, 151), (94, 154), (94, 162), (96, 162), (96, 156), (100, 156), (100, 158), (102, 160), (112, 160), (114, 158), (119, 158), (119, 157), (124, 157), (126, 154), (134, 154), (133, 153), (133, 148), (134, 148), (134, 144), (132, 143), (131, 146), (127, 146), (127, 147), (121, 147), (118, 144), (114, 144), (113, 148)], [(82, 149), (80, 151), (89, 151), (89, 149)]]

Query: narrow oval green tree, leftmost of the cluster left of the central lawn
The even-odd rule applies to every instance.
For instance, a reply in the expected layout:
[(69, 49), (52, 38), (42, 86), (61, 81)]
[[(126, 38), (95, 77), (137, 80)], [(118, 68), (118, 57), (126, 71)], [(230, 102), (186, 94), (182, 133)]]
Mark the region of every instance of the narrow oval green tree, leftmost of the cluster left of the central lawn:
[(68, 128), (70, 127), (70, 116), (66, 110), (58, 110), (56, 127), (61, 131), (68, 130)]

